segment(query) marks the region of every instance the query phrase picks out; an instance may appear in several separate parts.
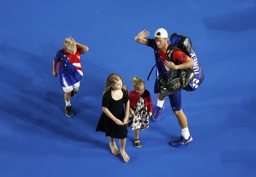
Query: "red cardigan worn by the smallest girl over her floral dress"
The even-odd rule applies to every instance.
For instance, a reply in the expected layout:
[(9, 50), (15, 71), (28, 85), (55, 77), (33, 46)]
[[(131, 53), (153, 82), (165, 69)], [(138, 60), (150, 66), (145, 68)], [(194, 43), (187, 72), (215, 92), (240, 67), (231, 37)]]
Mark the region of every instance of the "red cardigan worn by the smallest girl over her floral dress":
[(144, 104), (145, 107), (147, 107), (148, 112), (153, 111), (153, 106), (152, 106), (152, 99), (150, 96), (150, 92), (145, 89), (144, 93), (142, 95), (137, 94), (135, 90), (129, 92), (129, 100), (130, 100), (130, 108), (134, 110), (136, 104), (139, 101), (139, 98), (144, 99)]

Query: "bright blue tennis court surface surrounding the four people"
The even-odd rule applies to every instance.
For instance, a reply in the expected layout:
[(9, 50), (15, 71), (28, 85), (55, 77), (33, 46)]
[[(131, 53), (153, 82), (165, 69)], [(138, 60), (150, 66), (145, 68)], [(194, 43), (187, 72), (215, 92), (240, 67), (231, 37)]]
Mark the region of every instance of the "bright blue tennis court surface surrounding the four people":
[[(3, 1), (0, 11), (0, 176), (255, 176), (256, 1)], [(106, 78), (133, 75), (153, 92), (151, 48), (134, 41), (143, 29), (189, 36), (205, 79), (182, 92), (193, 142), (168, 144), (180, 127), (166, 100), (158, 122), (140, 133), (131, 159), (110, 153), (95, 132)], [(63, 90), (52, 60), (65, 37), (88, 45), (84, 78), (64, 114)], [(118, 141), (116, 141), (118, 142)]]

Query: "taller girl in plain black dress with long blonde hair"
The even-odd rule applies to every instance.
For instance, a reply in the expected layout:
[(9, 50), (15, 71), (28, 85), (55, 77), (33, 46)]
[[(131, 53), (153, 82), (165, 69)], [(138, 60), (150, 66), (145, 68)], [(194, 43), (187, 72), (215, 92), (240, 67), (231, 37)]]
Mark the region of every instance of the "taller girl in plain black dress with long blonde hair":
[[(125, 109), (123, 104), (125, 104)], [(105, 136), (109, 137), (109, 147), (112, 153), (114, 155), (121, 154), (124, 162), (128, 162), (130, 159), (125, 151), (129, 107), (127, 87), (123, 85), (121, 76), (115, 73), (110, 74), (102, 96), (103, 112), (98, 121), (96, 132), (105, 132)], [(119, 139), (120, 151), (115, 144), (115, 138)]]

